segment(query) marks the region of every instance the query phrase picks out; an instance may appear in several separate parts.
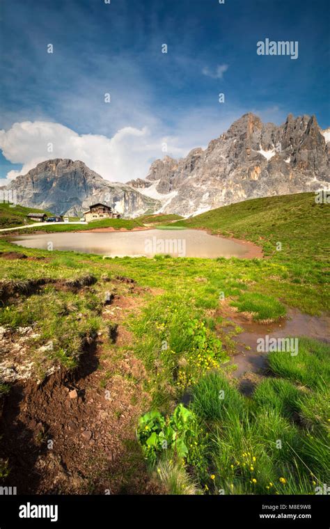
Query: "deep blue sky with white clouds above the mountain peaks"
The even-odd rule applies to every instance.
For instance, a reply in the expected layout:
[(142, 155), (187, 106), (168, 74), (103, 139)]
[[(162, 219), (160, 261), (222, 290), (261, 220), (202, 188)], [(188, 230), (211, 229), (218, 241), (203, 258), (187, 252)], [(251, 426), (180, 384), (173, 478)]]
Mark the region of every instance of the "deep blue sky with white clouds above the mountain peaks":
[[(315, 113), (329, 127), (327, 4), (3, 0), (0, 178), (52, 157), (109, 180), (143, 177), (165, 143), (186, 155), (248, 111), (278, 125)], [(265, 38), (297, 40), (299, 57), (258, 56)]]

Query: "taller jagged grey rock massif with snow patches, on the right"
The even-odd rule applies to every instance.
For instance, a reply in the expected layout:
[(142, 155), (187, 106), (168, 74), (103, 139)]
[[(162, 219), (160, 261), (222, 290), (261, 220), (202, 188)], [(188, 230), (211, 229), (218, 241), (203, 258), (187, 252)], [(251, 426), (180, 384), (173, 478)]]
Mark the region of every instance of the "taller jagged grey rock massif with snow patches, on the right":
[[(207, 149), (193, 149), (179, 160), (156, 160), (146, 182), (157, 184), (159, 194), (176, 191), (162, 211), (184, 216), (248, 198), (327, 189), (326, 132), (315, 116), (290, 114), (278, 127), (247, 113)], [(143, 193), (143, 184), (139, 188)]]

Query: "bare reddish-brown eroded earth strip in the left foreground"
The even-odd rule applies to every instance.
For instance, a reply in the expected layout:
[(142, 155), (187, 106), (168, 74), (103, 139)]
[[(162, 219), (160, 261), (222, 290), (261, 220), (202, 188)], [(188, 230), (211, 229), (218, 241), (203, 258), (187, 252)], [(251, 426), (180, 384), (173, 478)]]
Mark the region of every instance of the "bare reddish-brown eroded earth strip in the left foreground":
[(146, 372), (122, 350), (132, 340), (123, 319), (141, 303), (142, 296), (124, 296), (104, 307), (104, 320), (118, 323), (116, 344), (100, 335), (75, 372), (58, 371), (39, 386), (13, 385), (3, 404), (0, 450), (9, 460), (8, 485), (17, 494), (156, 491), (134, 433), (148, 407)]

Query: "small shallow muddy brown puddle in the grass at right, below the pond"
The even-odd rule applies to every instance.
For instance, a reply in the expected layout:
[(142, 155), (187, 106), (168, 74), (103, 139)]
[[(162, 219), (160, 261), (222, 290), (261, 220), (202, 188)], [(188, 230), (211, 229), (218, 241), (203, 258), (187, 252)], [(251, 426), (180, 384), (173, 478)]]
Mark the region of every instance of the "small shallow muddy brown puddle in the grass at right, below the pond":
[(306, 336), (330, 343), (330, 317), (303, 314), (295, 308), (288, 309), (286, 319), (279, 323), (261, 324), (245, 319), (239, 313), (227, 315), (226, 321), (244, 329), (233, 340), (237, 344), (237, 354), (230, 363), (237, 365), (233, 376), (241, 378), (246, 372), (260, 373), (267, 370), (267, 353), (257, 352), (257, 340), (269, 335), (272, 338), (289, 338)]

